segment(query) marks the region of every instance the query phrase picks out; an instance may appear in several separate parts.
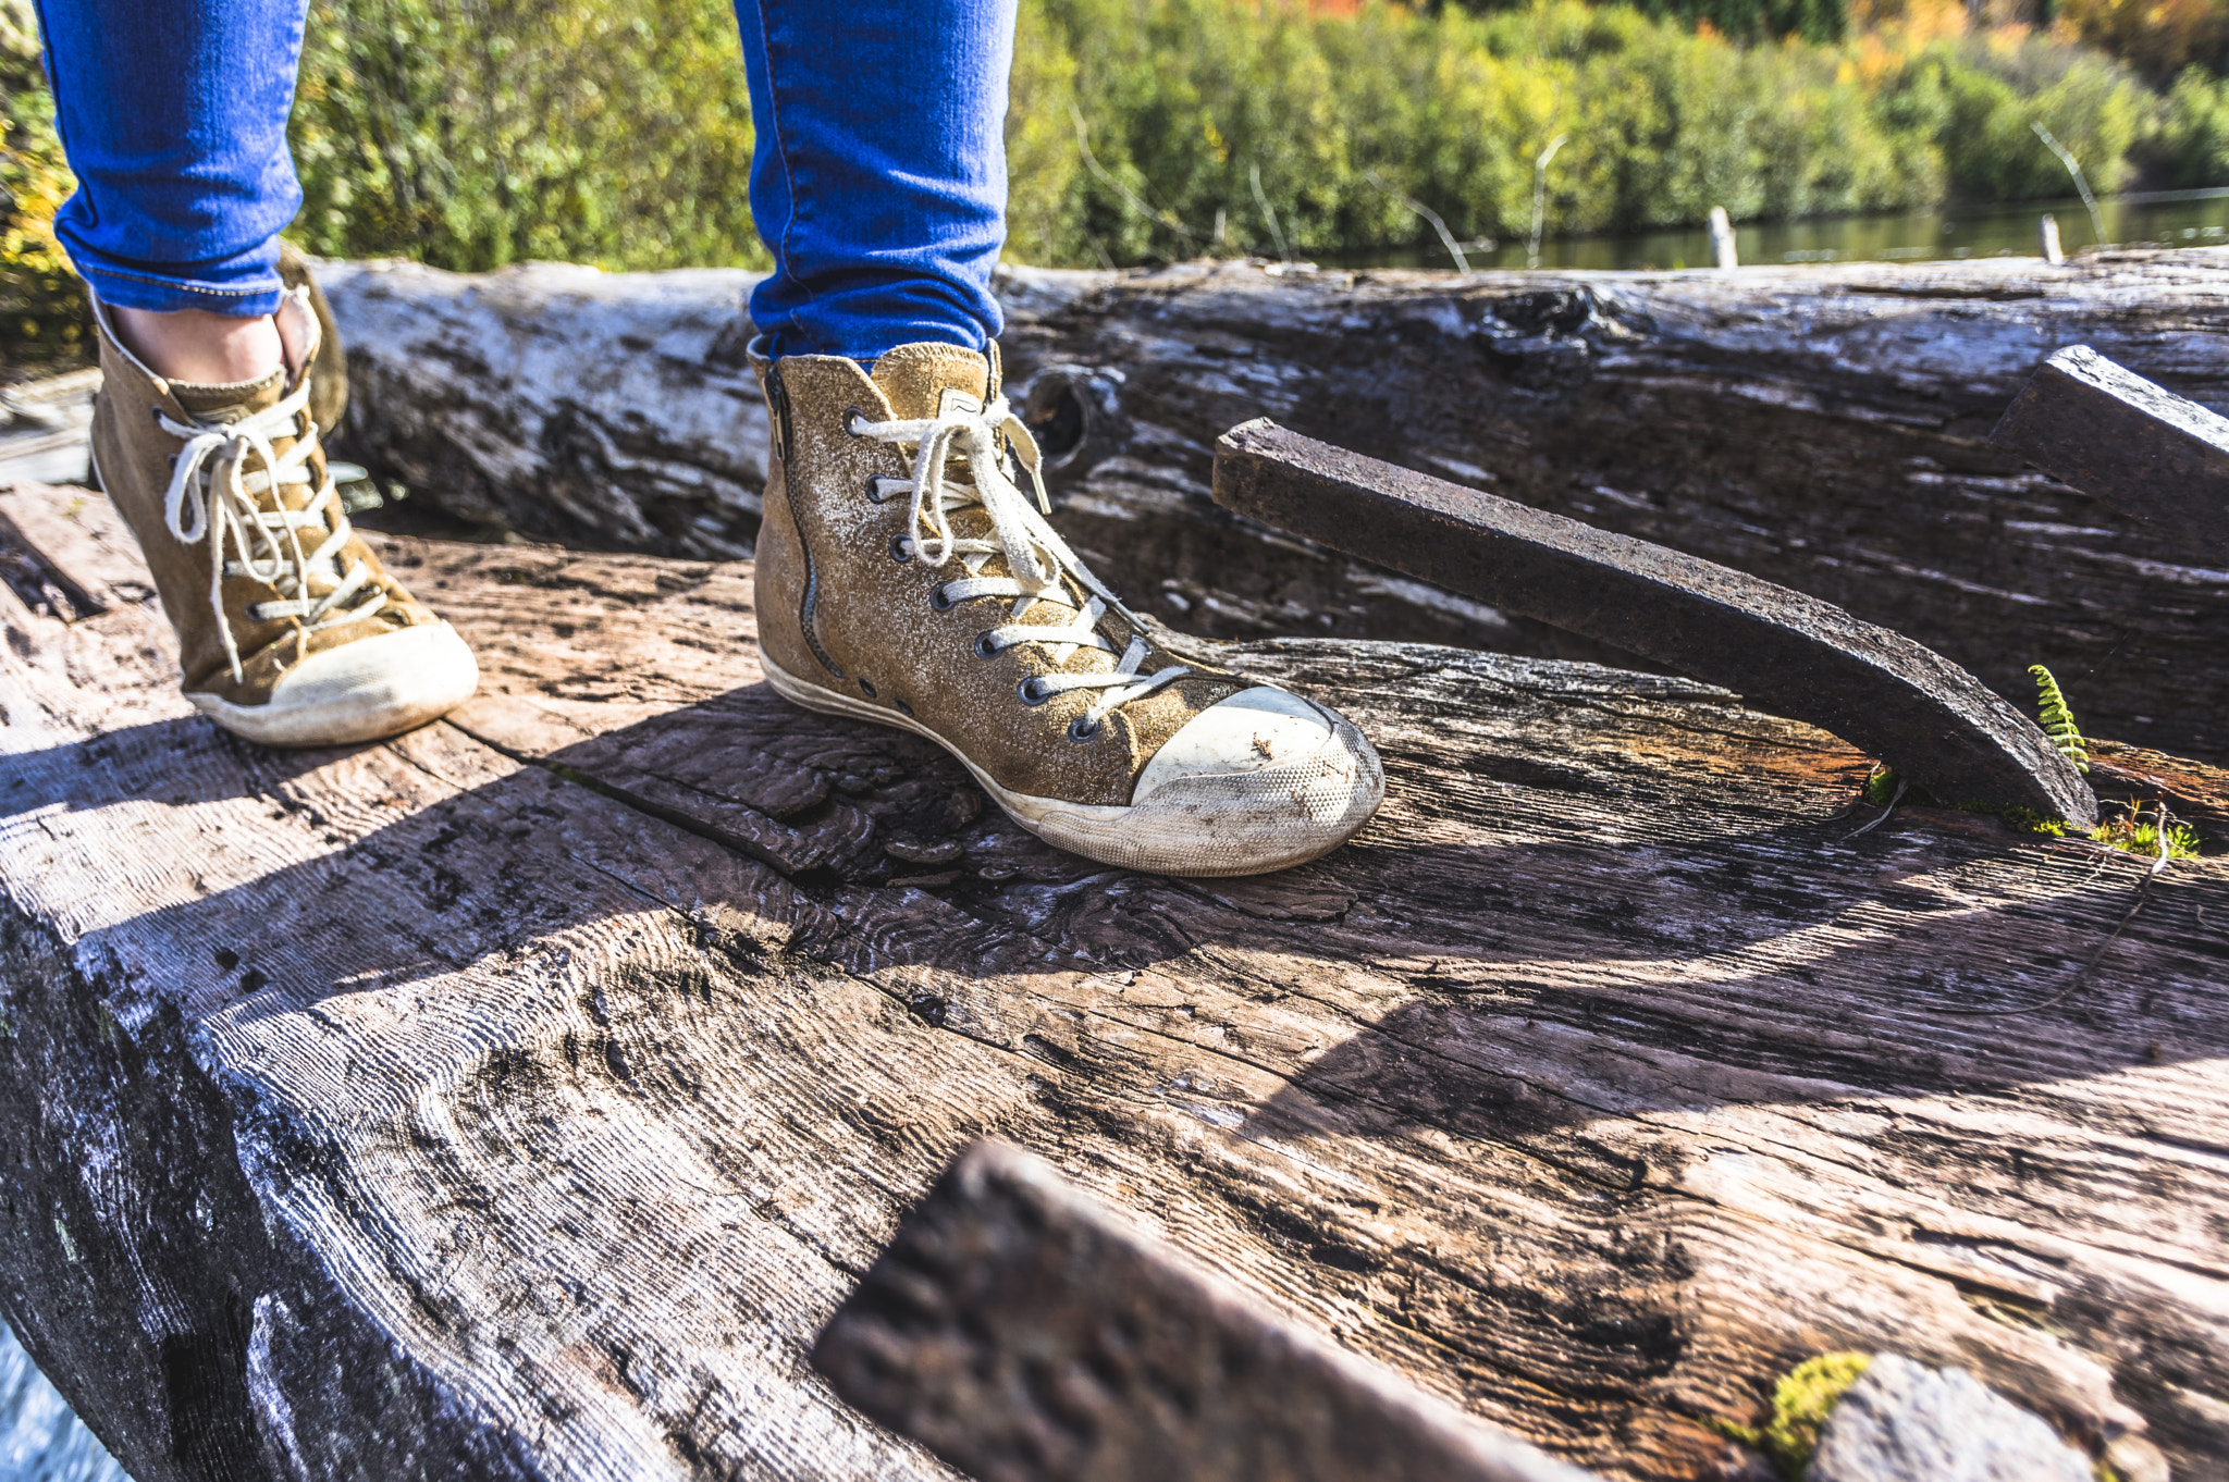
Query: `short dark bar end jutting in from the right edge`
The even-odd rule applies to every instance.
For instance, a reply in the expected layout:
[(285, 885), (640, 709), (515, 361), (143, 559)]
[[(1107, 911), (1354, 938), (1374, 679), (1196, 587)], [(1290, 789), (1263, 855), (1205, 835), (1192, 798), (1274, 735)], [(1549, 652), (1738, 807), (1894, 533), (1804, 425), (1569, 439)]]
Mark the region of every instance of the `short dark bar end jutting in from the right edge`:
[(2069, 345), (1988, 435), (2204, 559), (2229, 557), (2229, 417)]

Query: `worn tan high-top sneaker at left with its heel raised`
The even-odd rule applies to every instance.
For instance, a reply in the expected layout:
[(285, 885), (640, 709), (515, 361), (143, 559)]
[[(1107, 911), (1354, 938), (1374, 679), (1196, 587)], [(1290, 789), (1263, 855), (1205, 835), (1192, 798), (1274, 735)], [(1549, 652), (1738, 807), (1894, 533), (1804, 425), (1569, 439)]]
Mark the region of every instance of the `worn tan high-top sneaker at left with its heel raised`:
[(464, 702), (479, 666), (350, 530), (308, 410), (308, 292), (279, 314), (294, 370), (189, 386), (147, 370), (96, 305), (94, 475), (178, 631), (187, 700), (270, 747), (395, 735)]

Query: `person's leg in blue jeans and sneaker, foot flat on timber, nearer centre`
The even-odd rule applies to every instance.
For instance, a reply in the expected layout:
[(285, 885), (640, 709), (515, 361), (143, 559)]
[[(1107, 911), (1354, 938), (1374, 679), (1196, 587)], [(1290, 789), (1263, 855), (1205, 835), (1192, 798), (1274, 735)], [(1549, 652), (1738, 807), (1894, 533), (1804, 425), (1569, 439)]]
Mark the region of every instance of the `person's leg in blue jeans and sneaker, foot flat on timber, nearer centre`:
[[(758, 653), (796, 704), (929, 735), (1088, 858), (1253, 874), (1384, 798), (1340, 715), (1188, 662), (1030, 499), (999, 386), (1014, 0), (738, 0), (776, 272)], [(1019, 455), (1019, 457), (1014, 457)]]

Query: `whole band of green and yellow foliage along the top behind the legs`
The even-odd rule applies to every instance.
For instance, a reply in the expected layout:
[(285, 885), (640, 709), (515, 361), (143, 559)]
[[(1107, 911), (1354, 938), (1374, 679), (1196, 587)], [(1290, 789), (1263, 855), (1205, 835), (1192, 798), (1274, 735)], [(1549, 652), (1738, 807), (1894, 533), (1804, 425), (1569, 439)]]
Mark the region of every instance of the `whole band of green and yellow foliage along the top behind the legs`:
[[(2026, 7), (2026, 9), (2022, 9)], [(1551, 232), (2229, 183), (2229, 0), (1023, 0), (1010, 254), (1333, 256)], [(82, 334), (71, 189), (0, 0), (0, 343)], [(441, 267), (765, 265), (727, 0), (312, 0), (312, 252)]]

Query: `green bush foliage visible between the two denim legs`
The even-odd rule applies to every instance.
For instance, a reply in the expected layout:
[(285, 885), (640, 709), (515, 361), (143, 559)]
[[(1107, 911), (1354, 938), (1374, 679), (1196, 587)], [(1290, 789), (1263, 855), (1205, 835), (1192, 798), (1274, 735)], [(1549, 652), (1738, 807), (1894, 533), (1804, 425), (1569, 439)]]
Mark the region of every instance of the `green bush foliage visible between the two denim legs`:
[(317, 0), (292, 143), (319, 254), (769, 261), (724, 0)]

